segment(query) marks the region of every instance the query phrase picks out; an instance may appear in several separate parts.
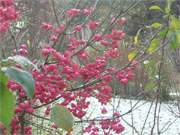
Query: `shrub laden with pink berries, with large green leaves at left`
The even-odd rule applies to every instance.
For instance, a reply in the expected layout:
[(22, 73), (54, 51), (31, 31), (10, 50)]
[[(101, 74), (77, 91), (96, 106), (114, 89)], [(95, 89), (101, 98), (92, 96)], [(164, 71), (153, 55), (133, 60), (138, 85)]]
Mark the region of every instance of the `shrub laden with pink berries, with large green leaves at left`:
[[(15, 8), (18, 2), (21, 1), (0, 0), (1, 33), (7, 33), (10, 24), (21, 16)], [(49, 35), (48, 40), (41, 41), (40, 60), (35, 56), (31, 59), (29, 42), (15, 46), (12, 56), (1, 59), (0, 129), (3, 133), (32, 134), (32, 121), (37, 117), (51, 121), (50, 128), (71, 134), (74, 123), (85, 119), (91, 98), (103, 106), (102, 114), (107, 113), (106, 105), (113, 94), (110, 83), (115, 79), (120, 85), (127, 85), (138, 67), (135, 59), (145, 54), (133, 50), (122, 67), (110, 64), (121, 58), (120, 46), (126, 37), (123, 27), (127, 21), (123, 15), (128, 10), (110, 18), (95, 19), (95, 6), (80, 8), (77, 3), (64, 10), (63, 19), (59, 20), (54, 1), (52, 9), (55, 21), (42, 22), (39, 27)], [(79, 17), (84, 21), (74, 21)], [(83, 31), (88, 31), (90, 36)], [(153, 40), (147, 51), (153, 53), (157, 44), (159, 41)], [(92, 55), (92, 50), (96, 55)], [(39, 115), (41, 108), (46, 109)], [(120, 134), (124, 130), (120, 117), (114, 111), (111, 118), (87, 120), (83, 133)]]

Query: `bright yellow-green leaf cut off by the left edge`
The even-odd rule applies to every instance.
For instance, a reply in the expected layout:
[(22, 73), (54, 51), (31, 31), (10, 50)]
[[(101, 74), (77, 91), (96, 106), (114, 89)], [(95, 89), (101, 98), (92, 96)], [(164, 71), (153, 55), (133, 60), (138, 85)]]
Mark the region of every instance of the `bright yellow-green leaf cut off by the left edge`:
[(15, 96), (8, 90), (7, 80), (0, 71), (0, 123), (9, 129), (14, 115)]

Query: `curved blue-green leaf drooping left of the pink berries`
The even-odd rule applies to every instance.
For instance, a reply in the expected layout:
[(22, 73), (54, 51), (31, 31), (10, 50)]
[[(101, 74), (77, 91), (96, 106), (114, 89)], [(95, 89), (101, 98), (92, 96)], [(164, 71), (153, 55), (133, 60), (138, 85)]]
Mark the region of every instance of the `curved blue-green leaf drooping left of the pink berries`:
[(12, 80), (21, 84), (27, 96), (33, 98), (34, 96), (34, 79), (27, 71), (15, 67), (3, 67), (2, 71)]

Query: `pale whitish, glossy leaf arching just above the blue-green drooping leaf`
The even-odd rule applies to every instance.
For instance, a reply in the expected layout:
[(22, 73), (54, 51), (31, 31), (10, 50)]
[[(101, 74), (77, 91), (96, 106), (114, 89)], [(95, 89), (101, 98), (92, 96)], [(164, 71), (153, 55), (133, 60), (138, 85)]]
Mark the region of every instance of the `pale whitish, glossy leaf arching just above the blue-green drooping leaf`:
[(24, 68), (29, 68), (31, 66), (31, 67), (34, 67), (35, 69), (37, 69), (37, 67), (29, 59), (27, 59), (26, 57), (20, 56), (20, 55), (8, 57), (7, 60), (10, 62), (15, 62)]

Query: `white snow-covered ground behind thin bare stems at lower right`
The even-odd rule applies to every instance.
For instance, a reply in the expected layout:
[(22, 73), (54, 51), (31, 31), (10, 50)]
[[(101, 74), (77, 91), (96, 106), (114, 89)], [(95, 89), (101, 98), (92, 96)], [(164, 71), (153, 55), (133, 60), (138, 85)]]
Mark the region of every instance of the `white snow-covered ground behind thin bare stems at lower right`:
[[(122, 135), (133, 135), (133, 133), (134, 135), (138, 135), (138, 134), (150, 135), (151, 134), (151, 128), (154, 121), (155, 103), (152, 103), (150, 101), (145, 101), (145, 100), (138, 101), (138, 100), (114, 98), (106, 107), (106, 109), (108, 110), (108, 113), (105, 115), (102, 115), (101, 108), (103, 108), (103, 106), (96, 99), (92, 98), (91, 104), (89, 107), (90, 110), (87, 116), (90, 117), (90, 119), (102, 117), (102, 116), (110, 117), (112, 116), (112, 112), (113, 112), (113, 106), (112, 106), (113, 104), (115, 105), (114, 109), (120, 112), (121, 115), (128, 112), (132, 106), (135, 106), (132, 113), (124, 115), (121, 119), (122, 124), (125, 127), (125, 131), (122, 133)], [(152, 105), (152, 108), (149, 111), (149, 108), (151, 105)], [(159, 105), (160, 104), (158, 104), (158, 106)], [(173, 104), (169, 104), (169, 103), (161, 104), (158, 128), (162, 130), (161, 135), (180, 135), (180, 118), (175, 117), (175, 115), (173, 115), (169, 111), (169, 107), (173, 108), (173, 110), (176, 111), (176, 107)], [(158, 107), (157, 112), (158, 111), (159, 111), (159, 107)], [(145, 128), (142, 132), (142, 128), (143, 128), (148, 112), (150, 113), (146, 121), (146, 124), (144, 126)], [(129, 126), (129, 124), (132, 125), (132, 120), (133, 120), (133, 126), (136, 128), (138, 133), (133, 131), (132, 127)], [(156, 119), (154, 135), (157, 135), (157, 134), (158, 133), (157, 133), (157, 119)]]

